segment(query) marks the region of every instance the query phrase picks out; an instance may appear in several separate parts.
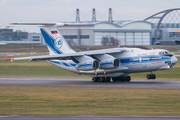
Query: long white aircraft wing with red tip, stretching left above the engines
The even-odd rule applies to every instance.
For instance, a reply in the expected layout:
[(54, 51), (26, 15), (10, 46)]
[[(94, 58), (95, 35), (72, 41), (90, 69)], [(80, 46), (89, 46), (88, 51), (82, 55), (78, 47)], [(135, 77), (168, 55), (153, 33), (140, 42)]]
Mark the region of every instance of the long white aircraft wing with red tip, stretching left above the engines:
[(104, 49), (104, 50), (95, 50), (95, 51), (86, 51), (86, 52), (77, 52), (77, 53), (67, 53), (67, 54), (58, 54), (58, 55), (45, 55), (45, 56), (32, 56), (32, 57), (21, 57), (21, 58), (7, 58), (4, 60), (30, 60), (30, 61), (39, 61), (39, 60), (72, 60), (73, 57), (81, 56), (92, 56), (92, 55), (103, 55), (103, 54), (119, 54), (126, 51), (125, 49)]

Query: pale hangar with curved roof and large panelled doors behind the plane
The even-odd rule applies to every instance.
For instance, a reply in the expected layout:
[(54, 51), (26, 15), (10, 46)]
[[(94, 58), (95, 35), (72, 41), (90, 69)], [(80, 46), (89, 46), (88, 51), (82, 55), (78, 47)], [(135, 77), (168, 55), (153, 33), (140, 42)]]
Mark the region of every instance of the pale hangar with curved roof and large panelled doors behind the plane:
[(59, 27), (70, 45), (151, 45), (151, 23), (146, 21), (68, 23)]

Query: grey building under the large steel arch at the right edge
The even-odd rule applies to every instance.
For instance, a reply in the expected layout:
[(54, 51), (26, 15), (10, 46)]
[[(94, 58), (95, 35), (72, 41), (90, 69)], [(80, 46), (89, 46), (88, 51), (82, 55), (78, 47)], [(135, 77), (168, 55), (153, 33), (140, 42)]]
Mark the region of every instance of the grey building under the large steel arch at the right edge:
[(180, 45), (180, 8), (158, 12), (144, 21), (152, 23), (153, 45)]

